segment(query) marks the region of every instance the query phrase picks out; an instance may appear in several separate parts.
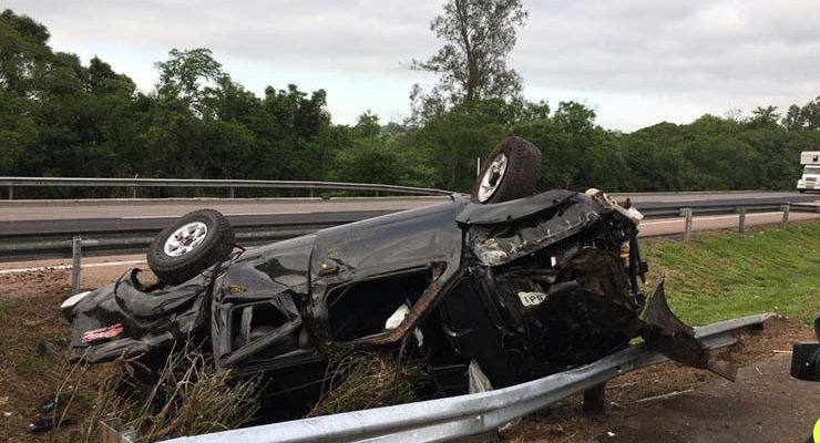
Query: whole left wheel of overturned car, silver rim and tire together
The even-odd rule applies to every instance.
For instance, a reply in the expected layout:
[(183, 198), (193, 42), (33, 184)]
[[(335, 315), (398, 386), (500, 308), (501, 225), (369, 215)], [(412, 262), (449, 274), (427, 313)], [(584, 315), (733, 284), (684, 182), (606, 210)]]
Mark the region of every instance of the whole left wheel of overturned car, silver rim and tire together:
[(185, 214), (154, 238), (147, 253), (151, 270), (160, 280), (180, 285), (234, 249), (234, 229), (224, 215), (214, 209)]

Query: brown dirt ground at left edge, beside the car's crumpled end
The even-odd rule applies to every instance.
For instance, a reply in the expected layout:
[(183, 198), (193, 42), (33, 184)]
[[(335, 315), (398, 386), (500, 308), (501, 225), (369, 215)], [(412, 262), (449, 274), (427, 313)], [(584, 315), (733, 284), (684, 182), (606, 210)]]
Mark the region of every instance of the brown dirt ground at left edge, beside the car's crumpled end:
[[(109, 259), (110, 260), (110, 259)], [(104, 262), (105, 260), (89, 260)], [(0, 269), (40, 268), (58, 262), (3, 264)], [(132, 266), (104, 266), (83, 269), (81, 290), (90, 290), (114, 281)], [(143, 265), (143, 267), (145, 267)], [(35, 406), (58, 391), (72, 367), (62, 352), (41, 354), (43, 341), (64, 347), (69, 323), (60, 313), (60, 303), (71, 287), (70, 270), (38, 269), (0, 274), (0, 442), (76, 441), (75, 435), (30, 434), (25, 426), (37, 418)], [(85, 380), (93, 379), (90, 368)], [(63, 390), (71, 390), (64, 385)], [(93, 394), (93, 388), (80, 392), (74, 403), (82, 409)], [(82, 419), (69, 414), (74, 422)]]

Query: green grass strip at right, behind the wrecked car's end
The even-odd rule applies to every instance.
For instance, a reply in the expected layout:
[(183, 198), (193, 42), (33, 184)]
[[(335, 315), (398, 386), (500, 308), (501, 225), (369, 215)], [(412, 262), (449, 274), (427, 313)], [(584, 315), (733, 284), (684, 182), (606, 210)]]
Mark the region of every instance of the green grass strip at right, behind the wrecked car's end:
[(700, 233), (680, 240), (643, 241), (647, 292), (666, 274), (666, 296), (690, 324), (760, 312), (803, 323), (820, 316), (820, 222), (737, 233)]

